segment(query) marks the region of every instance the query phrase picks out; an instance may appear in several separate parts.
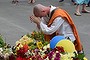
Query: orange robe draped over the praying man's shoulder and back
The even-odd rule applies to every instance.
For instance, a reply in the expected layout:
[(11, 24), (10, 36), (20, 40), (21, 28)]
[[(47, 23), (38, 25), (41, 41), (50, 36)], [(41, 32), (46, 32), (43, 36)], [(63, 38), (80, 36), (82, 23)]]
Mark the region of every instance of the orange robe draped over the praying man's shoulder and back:
[[(81, 50), (82, 50), (82, 45), (81, 45), (81, 42), (80, 42), (80, 38), (79, 38), (79, 35), (78, 35), (78, 32), (77, 32), (77, 29), (76, 29), (76, 27), (75, 27), (75, 25), (74, 25), (74, 22), (73, 22), (72, 18), (70, 17), (70, 15), (69, 15), (65, 10), (62, 10), (62, 9), (60, 9), (60, 8), (57, 8), (57, 9), (54, 11), (51, 19), (50, 19), (49, 22), (48, 22), (48, 27), (51, 26), (51, 24), (53, 23), (53, 21), (54, 21), (55, 18), (57, 18), (57, 17), (62, 17), (65, 21), (67, 21), (67, 22), (69, 23), (69, 25), (71, 26), (71, 29), (72, 29), (72, 31), (73, 31), (73, 34), (74, 34), (74, 36), (75, 36), (75, 38), (76, 38), (75, 44), (74, 44), (74, 45), (75, 45), (75, 48), (76, 48), (77, 51), (81, 51)], [(57, 32), (55, 32), (55, 33), (53, 33), (53, 34), (51, 34), (51, 35), (46, 35), (46, 34), (45, 34), (44, 37), (45, 37), (45, 39), (46, 39), (47, 41), (50, 42), (50, 40), (51, 40), (54, 36), (56, 36), (56, 35), (57, 35)]]

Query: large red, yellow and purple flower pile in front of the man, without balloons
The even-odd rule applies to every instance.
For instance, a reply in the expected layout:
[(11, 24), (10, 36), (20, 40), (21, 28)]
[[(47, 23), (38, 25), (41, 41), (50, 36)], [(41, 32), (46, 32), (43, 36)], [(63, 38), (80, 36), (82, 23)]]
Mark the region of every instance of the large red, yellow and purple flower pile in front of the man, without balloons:
[(65, 52), (62, 46), (51, 49), (40, 31), (24, 35), (16, 41), (14, 48), (16, 60), (79, 60), (77, 53)]

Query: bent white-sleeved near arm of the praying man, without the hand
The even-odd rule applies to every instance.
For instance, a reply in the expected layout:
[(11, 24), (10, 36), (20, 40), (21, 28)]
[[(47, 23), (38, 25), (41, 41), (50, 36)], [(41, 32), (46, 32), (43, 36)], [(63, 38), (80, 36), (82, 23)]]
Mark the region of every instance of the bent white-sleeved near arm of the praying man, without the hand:
[(40, 22), (40, 28), (45, 34), (53, 34), (58, 30), (58, 28), (63, 24), (64, 20), (61, 17), (57, 17), (52, 25), (48, 27), (46, 24), (44, 24), (42, 21)]

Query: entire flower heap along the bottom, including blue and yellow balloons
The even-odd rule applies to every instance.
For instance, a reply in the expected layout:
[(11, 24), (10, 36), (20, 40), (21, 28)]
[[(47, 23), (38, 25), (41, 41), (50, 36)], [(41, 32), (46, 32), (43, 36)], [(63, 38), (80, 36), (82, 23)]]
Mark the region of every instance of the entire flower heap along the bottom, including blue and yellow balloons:
[(58, 37), (47, 42), (42, 32), (33, 31), (22, 36), (12, 48), (0, 37), (0, 60), (87, 60), (84, 54), (76, 52), (70, 40)]

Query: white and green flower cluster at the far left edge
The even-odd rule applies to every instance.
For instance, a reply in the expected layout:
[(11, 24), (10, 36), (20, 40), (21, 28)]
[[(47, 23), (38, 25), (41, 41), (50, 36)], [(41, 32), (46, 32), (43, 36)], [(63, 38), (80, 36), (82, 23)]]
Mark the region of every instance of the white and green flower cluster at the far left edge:
[[(14, 54), (12, 52), (10, 44), (4, 42), (2, 35), (0, 35), (0, 60), (12, 60)], [(11, 57), (12, 56), (12, 57)]]

